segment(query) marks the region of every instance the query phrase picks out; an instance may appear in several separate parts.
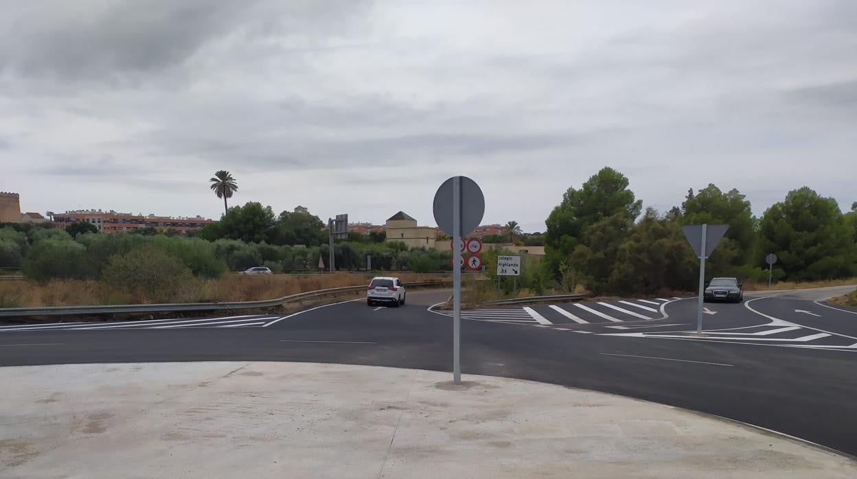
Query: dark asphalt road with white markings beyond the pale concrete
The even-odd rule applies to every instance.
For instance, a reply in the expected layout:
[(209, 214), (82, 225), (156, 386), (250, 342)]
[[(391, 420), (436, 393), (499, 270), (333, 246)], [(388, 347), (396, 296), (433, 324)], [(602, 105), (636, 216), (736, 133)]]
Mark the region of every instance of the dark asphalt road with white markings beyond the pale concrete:
[[(464, 374), (538, 380), (698, 410), (857, 455), (857, 310), (814, 302), (837, 290), (706, 304), (651, 298), (471, 311)], [(290, 316), (132, 324), (0, 326), (0, 365), (72, 362), (305, 361), (452, 369), (452, 320), (362, 300)]]

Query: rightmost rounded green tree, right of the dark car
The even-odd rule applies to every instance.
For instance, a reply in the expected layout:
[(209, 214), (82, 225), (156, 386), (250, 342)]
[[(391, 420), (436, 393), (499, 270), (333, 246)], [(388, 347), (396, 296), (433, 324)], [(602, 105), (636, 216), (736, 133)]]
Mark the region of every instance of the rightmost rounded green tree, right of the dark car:
[(836, 200), (807, 187), (790, 191), (784, 201), (764, 212), (760, 236), (760, 255), (775, 253), (787, 279), (812, 281), (857, 273), (853, 234)]

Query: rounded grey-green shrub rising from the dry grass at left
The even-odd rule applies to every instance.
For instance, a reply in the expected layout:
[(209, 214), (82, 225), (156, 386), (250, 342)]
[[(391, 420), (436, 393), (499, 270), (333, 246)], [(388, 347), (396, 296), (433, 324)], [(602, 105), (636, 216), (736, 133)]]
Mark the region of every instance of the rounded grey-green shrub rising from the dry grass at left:
[(141, 302), (163, 301), (194, 282), (188, 266), (161, 248), (143, 246), (128, 254), (114, 254), (105, 266), (107, 284), (128, 290)]

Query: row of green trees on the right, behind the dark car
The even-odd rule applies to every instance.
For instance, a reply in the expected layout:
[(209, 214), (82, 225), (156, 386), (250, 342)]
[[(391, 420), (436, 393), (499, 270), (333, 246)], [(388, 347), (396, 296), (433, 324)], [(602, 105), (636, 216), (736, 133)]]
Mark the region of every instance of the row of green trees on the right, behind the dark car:
[(681, 225), (728, 224), (711, 255), (708, 278), (764, 282), (765, 255), (774, 253), (776, 280), (812, 281), (857, 276), (857, 202), (843, 214), (832, 198), (807, 187), (788, 192), (761, 217), (737, 189), (714, 184), (688, 191), (667, 213), (643, 211), (628, 179), (603, 168), (570, 188), (548, 216), (544, 267), (557, 283), (595, 293), (693, 290), (698, 259)]

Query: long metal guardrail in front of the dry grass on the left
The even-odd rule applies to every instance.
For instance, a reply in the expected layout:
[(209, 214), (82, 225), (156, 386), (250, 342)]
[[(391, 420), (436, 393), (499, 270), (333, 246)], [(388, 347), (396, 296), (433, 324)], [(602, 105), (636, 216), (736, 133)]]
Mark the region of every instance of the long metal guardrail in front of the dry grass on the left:
[[(405, 283), (405, 287), (446, 286), (450, 281), (423, 281)], [(261, 301), (238, 302), (176, 302), (166, 304), (121, 304), (107, 306), (51, 306), (48, 308), (3, 308), (0, 317), (18, 316), (65, 316), (75, 314), (121, 314), (121, 313), (172, 313), (178, 311), (219, 311), (233, 309), (273, 308), (287, 302), (303, 301), (305, 299), (327, 296), (339, 293), (366, 290), (365, 285), (345, 286), (327, 290), (305, 291), (295, 295), (263, 299)]]

